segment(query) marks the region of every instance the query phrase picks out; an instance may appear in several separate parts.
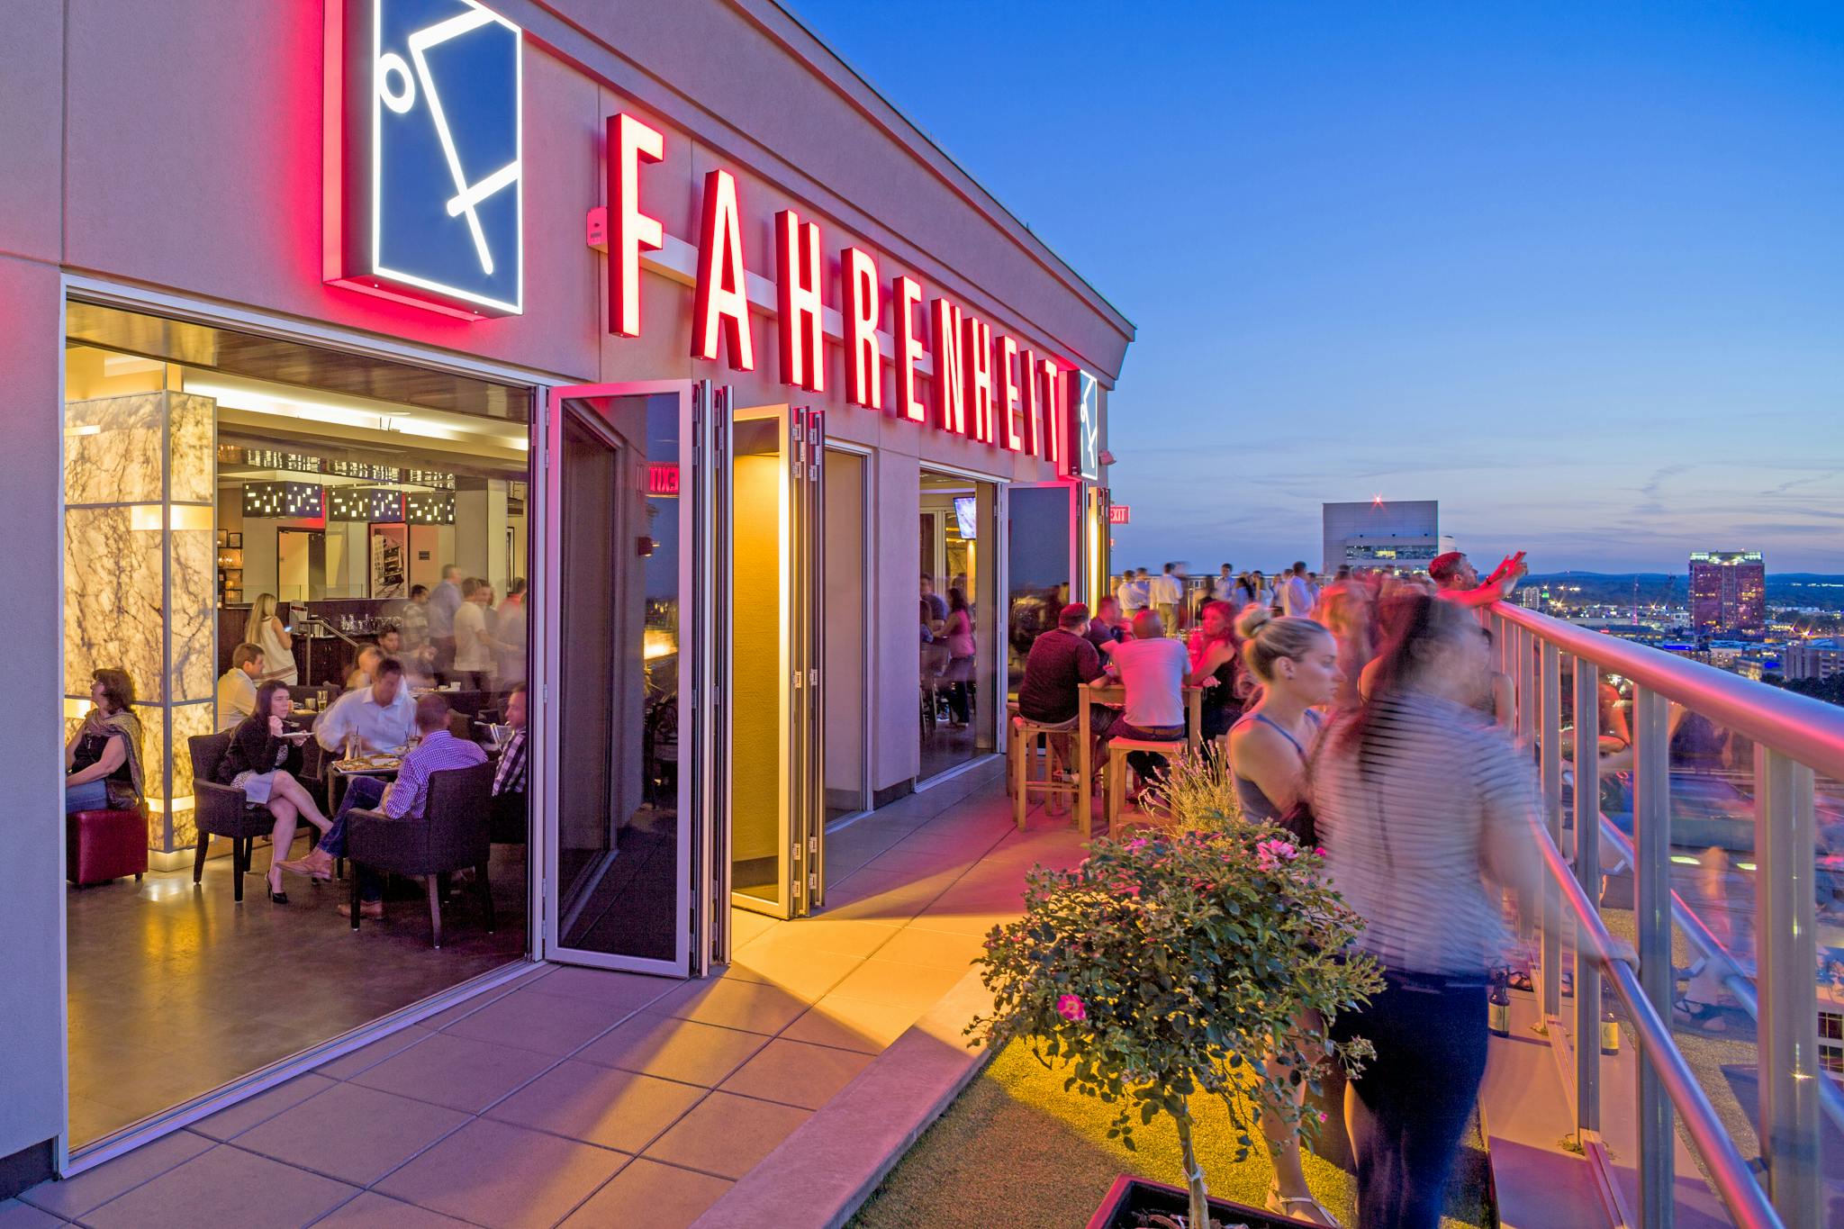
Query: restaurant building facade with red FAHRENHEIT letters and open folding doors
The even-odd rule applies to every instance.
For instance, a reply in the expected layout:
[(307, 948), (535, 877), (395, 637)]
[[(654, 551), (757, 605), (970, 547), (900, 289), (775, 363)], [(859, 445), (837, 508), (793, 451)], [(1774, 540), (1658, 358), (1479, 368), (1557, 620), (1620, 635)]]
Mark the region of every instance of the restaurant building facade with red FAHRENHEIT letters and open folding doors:
[[(31, 579), (0, 660), (0, 1196), (502, 964), (706, 975), (732, 908), (824, 901), (830, 822), (1001, 750), (1016, 628), (1108, 575), (1132, 324), (767, 0), (26, 0), (0, 79), (0, 516)], [(918, 671), (918, 575), (972, 656)], [(448, 584), (489, 621), (424, 614)], [(321, 1024), (188, 1083), (162, 1056), (212, 1047), (160, 1004), (199, 1006), (227, 945), (345, 942), (312, 932), (330, 899), (245, 894), (267, 857), (208, 827), (232, 652), (273, 638), (313, 720), (384, 634), (476, 730), (529, 687), (494, 835), (522, 921), (503, 895), (503, 949), (347, 1015), (323, 986)], [(96, 671), (133, 691), (148, 881), (77, 894)], [(345, 768), (306, 759), (332, 807)], [(144, 947), (146, 995), (74, 954), (76, 908)]]

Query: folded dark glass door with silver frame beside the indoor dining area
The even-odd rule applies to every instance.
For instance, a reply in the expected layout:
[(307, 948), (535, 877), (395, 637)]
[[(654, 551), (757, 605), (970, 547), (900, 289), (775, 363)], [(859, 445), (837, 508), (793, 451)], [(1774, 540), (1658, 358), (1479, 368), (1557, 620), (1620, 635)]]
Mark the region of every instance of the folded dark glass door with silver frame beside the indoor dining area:
[[(723, 814), (725, 391), (557, 389), (546, 416), (544, 954), (697, 975)], [(537, 757), (535, 757), (537, 759)], [(717, 899), (723, 899), (721, 895)], [(721, 956), (719, 956), (721, 958)]]

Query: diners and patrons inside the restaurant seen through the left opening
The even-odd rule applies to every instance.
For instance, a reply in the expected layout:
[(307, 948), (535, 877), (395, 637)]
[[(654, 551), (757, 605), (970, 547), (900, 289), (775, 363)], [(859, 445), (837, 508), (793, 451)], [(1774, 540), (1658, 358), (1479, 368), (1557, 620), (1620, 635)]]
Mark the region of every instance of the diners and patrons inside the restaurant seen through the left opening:
[[(433, 590), (415, 586), (398, 623), (354, 650), (339, 696), (310, 713), (297, 709), (295, 645), (275, 595), (262, 593), (251, 604), (243, 641), (232, 647), (230, 667), (218, 680), (218, 733), (229, 733), (218, 781), (243, 790), (249, 805), (275, 818), (267, 872), (273, 903), (288, 903), (284, 872), (332, 877), (334, 859), (345, 857), (352, 811), (374, 807), (391, 818), (420, 820), (431, 772), (487, 761), (478, 743), (454, 733), (454, 708), (437, 689), (443, 684), (500, 696), (507, 733), (494, 748), (494, 829), (524, 831), (526, 582), (513, 580), (498, 604), (492, 597), (491, 584), (463, 579), (454, 566), (443, 569)], [(146, 792), (133, 680), (120, 669), (98, 669), (90, 702), (65, 746), (65, 811), (140, 811)], [(312, 730), (297, 719), (312, 722)], [(352, 776), (337, 809), (326, 814), (306, 772), (310, 737), (325, 752), (323, 765), (395, 755), (395, 779)], [(315, 844), (306, 857), (290, 859), (302, 822), (315, 829)], [(382, 886), (361, 873), (360, 888), (363, 916), (382, 914)]]

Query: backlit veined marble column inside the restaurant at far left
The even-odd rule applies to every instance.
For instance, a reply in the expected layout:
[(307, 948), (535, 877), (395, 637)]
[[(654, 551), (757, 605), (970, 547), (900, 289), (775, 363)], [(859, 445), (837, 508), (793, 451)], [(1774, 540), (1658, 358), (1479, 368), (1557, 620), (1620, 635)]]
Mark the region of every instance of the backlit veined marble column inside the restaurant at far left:
[(214, 726), (216, 440), (216, 402), (188, 392), (65, 405), (65, 717), (92, 671), (135, 682), (157, 868), (195, 840), (186, 739)]

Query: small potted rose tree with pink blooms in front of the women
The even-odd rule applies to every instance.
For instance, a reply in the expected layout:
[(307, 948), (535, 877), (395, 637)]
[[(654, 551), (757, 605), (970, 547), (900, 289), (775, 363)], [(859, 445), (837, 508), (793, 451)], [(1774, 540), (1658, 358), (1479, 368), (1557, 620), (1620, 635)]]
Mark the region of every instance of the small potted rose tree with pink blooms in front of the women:
[[(1296, 1082), (1317, 1082), (1331, 1063), (1353, 1071), (1368, 1056), (1365, 1043), (1337, 1047), (1298, 1026), (1307, 1012), (1330, 1026), (1381, 986), (1372, 960), (1346, 954), (1361, 921), (1318, 872), (1313, 849), (1230, 807), (1206, 827), (1095, 840), (1070, 872), (1031, 872), (1023, 916), (988, 934), (979, 962), (994, 1012), (968, 1032), (994, 1047), (1029, 1039), (1040, 1061), (1068, 1069), (1066, 1087), (1117, 1107), (1108, 1137), (1129, 1148), (1134, 1126), (1158, 1115), (1176, 1126), (1189, 1214), (1129, 1218), (1121, 1209), (1093, 1223), (1204, 1229), (1212, 1211), (1285, 1223), (1256, 1209), (1212, 1209), (1191, 1102), (1224, 1102), (1241, 1161), (1259, 1104), (1311, 1141), (1318, 1120), (1294, 1109)], [(1293, 1074), (1271, 1078), (1269, 1052)]]

